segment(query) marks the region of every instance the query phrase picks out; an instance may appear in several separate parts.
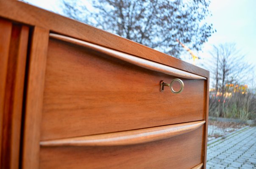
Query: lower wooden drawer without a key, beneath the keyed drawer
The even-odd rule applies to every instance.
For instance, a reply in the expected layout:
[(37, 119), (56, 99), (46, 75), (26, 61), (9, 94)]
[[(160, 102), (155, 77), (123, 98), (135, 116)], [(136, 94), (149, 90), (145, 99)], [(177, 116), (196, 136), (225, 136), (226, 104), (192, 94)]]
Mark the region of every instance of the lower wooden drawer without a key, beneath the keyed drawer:
[[(171, 138), (160, 139), (139, 144), (109, 145), (109, 144), (41, 144), (40, 169), (200, 169), (203, 152), (203, 122), (196, 129), (182, 134), (178, 129)], [(181, 124), (184, 125), (184, 124)], [(199, 126), (199, 127), (198, 127)], [(180, 126), (181, 127), (181, 126)], [(173, 128), (178, 128), (177, 125)], [(151, 128), (151, 130), (154, 130)], [(166, 133), (158, 131), (157, 137)], [(168, 131), (167, 131), (168, 132)], [(141, 134), (143, 140), (150, 134)], [(151, 133), (152, 134), (152, 133)], [(108, 134), (105, 134), (108, 135)], [(136, 135), (136, 134), (134, 134)], [(97, 136), (94, 136), (97, 137)], [(99, 137), (98, 137), (99, 138)], [(120, 138), (120, 137), (119, 137)], [(109, 137), (106, 140), (110, 139)], [(72, 139), (69, 140), (72, 143)], [(134, 140), (130, 140), (134, 142)], [(62, 142), (63, 143), (63, 142)], [(67, 143), (67, 142), (66, 142)], [(92, 143), (97, 143), (93, 141)], [(98, 142), (99, 143), (99, 142)], [(102, 143), (102, 142), (101, 142)], [(113, 143), (113, 139), (112, 139)]]

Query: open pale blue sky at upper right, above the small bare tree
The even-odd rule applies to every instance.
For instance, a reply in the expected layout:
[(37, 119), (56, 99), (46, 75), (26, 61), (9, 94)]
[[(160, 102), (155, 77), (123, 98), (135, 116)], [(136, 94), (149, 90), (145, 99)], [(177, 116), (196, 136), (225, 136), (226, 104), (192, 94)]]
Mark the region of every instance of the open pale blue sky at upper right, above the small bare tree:
[[(212, 16), (206, 19), (217, 30), (203, 47), (203, 55), (212, 45), (236, 43), (246, 61), (256, 65), (256, 0), (212, 0)], [(208, 54), (209, 55), (209, 54)], [(256, 72), (256, 68), (254, 68)]]

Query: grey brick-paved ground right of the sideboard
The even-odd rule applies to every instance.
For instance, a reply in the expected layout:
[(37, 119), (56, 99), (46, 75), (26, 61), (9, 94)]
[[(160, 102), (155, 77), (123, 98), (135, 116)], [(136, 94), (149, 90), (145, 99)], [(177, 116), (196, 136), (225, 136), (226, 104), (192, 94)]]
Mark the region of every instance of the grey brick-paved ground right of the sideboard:
[(256, 169), (256, 127), (209, 122), (206, 169)]

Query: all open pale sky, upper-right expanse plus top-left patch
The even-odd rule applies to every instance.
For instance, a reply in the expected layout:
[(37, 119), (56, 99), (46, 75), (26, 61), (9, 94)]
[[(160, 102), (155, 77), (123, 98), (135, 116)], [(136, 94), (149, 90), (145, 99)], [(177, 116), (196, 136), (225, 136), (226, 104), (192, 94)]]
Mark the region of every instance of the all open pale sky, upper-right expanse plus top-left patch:
[[(32, 5), (49, 11), (61, 13), (61, 0), (24, 0)], [(212, 16), (206, 22), (212, 23), (216, 33), (212, 34), (203, 45), (201, 52), (195, 52), (201, 60), (196, 65), (203, 66), (210, 60), (212, 45), (235, 43), (237, 49), (245, 54), (245, 61), (255, 65), (252, 73), (256, 74), (256, 0), (211, 0), (209, 11)], [(192, 63), (192, 57), (184, 52), (181, 59)], [(250, 74), (251, 75), (251, 74)], [(248, 76), (250, 76), (248, 75)], [(254, 79), (256, 84), (256, 79)]]

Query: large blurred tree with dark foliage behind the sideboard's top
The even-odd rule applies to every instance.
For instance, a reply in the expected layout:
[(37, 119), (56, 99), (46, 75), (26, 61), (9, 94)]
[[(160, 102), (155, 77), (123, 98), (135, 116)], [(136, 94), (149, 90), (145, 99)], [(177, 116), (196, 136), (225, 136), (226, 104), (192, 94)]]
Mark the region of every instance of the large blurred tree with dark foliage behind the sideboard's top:
[[(214, 32), (203, 22), (208, 0), (92, 0), (93, 10), (78, 1), (64, 1), (67, 16), (178, 57), (184, 49), (199, 50)], [(82, 15), (82, 13), (84, 15)], [(86, 14), (87, 13), (87, 14)]]

